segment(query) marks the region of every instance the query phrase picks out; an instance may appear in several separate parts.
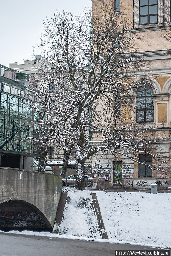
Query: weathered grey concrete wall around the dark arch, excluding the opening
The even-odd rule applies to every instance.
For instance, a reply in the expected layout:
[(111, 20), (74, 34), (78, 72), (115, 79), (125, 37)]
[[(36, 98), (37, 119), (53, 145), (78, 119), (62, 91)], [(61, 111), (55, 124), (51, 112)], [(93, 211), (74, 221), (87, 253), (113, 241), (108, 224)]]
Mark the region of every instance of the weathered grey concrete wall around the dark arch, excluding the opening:
[(61, 192), (61, 176), (0, 167), (0, 204), (9, 200), (32, 204), (49, 228), (54, 225)]

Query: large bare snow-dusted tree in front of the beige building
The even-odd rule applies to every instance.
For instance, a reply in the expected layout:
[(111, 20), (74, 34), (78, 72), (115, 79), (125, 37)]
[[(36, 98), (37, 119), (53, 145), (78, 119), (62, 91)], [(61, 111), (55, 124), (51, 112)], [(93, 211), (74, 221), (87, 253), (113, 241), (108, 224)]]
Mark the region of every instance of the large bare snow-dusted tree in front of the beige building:
[(143, 65), (135, 55), (137, 35), (124, 14), (115, 13), (106, 1), (96, 13), (74, 17), (57, 12), (44, 25), (39, 45), (44, 87), (41, 83), (36, 97), (46, 106), (51, 135), (43, 144), (52, 140), (61, 144), (63, 176), (75, 150), (76, 182), (82, 188), (85, 163), (96, 153), (130, 157), (130, 151), (148, 152), (146, 148), (159, 141), (147, 138), (148, 129), (135, 124), (135, 115), (130, 116), (136, 110), (135, 89), (147, 83), (146, 78), (132, 83), (130, 77), (130, 71)]

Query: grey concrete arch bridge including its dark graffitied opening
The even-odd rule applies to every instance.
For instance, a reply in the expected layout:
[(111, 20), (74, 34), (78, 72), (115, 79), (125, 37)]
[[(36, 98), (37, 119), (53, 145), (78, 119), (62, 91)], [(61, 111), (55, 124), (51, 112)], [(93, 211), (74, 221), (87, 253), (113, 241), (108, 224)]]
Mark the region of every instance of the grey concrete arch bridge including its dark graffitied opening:
[(52, 230), (61, 192), (59, 175), (0, 167), (0, 228)]

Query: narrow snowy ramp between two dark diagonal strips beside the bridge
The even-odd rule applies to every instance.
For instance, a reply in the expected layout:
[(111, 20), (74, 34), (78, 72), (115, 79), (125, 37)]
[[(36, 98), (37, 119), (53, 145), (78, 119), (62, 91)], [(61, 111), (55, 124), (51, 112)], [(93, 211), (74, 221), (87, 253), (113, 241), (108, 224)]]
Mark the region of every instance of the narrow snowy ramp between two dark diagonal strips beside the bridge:
[(60, 227), (54, 226), (61, 235), (102, 238), (89, 191), (68, 190), (69, 204), (65, 204)]

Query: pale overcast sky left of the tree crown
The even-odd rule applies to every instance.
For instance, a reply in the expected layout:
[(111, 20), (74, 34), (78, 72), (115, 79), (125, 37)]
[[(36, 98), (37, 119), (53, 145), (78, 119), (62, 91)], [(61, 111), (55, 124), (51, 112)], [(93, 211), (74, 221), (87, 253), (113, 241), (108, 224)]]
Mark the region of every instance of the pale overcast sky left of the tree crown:
[[(90, 0), (8, 0), (0, 1), (0, 64), (24, 63), (33, 59), (33, 46), (40, 42), (43, 20), (57, 11), (77, 15), (91, 8)], [(37, 50), (38, 51), (38, 50)], [(35, 52), (36, 53), (36, 52)], [(38, 52), (37, 52), (38, 53)]]

